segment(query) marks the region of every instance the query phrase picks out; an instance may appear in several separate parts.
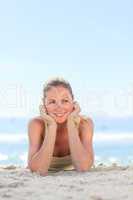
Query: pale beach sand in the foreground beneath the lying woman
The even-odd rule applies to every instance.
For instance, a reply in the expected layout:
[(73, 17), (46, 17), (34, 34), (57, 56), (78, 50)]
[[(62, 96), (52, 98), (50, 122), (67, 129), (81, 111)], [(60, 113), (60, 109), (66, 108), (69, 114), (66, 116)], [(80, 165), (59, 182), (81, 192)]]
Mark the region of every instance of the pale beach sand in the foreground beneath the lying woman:
[(0, 199), (133, 200), (133, 167), (101, 165), (88, 172), (49, 172), (44, 177), (25, 168), (1, 167)]

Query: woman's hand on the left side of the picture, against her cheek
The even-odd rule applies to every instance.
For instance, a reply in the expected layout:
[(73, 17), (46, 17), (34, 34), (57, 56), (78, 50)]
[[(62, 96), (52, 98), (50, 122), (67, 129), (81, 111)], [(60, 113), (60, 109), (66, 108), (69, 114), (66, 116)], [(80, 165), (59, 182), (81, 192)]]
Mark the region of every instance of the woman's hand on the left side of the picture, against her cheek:
[(40, 105), (39, 109), (40, 109), (40, 116), (44, 120), (46, 127), (51, 127), (51, 126), (57, 127), (55, 119), (46, 113), (44, 105)]

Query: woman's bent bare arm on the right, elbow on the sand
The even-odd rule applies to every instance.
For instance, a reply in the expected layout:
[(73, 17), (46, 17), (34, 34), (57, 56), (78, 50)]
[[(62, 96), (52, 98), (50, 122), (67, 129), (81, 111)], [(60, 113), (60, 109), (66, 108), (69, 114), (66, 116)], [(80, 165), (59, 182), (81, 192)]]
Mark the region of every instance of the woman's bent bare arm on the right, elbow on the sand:
[(81, 136), (73, 120), (68, 121), (69, 145), (73, 165), (77, 171), (87, 171), (93, 164), (93, 123), (85, 121), (81, 126)]

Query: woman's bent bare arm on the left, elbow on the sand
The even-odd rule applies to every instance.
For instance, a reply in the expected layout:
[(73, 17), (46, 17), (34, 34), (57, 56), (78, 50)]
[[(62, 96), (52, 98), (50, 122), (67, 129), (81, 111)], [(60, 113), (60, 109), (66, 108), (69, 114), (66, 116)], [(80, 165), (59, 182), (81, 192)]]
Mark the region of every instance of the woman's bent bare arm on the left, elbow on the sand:
[(29, 124), (29, 156), (28, 166), (31, 171), (39, 172), (41, 175), (47, 175), (48, 168), (53, 156), (56, 126), (50, 125), (45, 131), (45, 137), (42, 141), (42, 132), (40, 125), (34, 120)]

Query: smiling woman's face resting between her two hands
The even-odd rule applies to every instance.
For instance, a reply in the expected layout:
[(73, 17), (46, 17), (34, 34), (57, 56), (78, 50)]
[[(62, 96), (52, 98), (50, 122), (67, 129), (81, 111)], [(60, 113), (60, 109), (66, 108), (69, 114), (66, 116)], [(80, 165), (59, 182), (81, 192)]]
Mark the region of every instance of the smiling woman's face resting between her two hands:
[(73, 99), (68, 89), (63, 86), (52, 87), (44, 101), (46, 111), (57, 123), (63, 123), (73, 111)]

